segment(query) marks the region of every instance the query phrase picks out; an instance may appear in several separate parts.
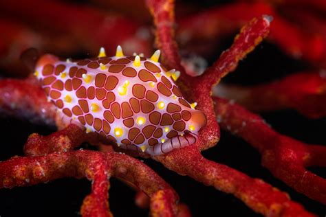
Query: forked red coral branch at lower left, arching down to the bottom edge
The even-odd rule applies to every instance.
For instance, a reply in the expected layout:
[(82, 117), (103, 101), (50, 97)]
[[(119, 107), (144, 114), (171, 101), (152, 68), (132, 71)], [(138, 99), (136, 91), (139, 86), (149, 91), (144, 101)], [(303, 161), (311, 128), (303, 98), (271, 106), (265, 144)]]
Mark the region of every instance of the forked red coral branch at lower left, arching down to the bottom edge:
[(152, 214), (173, 216), (178, 212), (178, 197), (171, 187), (144, 163), (127, 155), (78, 150), (14, 157), (0, 163), (0, 187), (35, 185), (67, 176), (92, 181), (91, 194), (81, 207), (83, 216), (111, 216), (107, 200), (110, 176), (126, 179), (149, 195)]

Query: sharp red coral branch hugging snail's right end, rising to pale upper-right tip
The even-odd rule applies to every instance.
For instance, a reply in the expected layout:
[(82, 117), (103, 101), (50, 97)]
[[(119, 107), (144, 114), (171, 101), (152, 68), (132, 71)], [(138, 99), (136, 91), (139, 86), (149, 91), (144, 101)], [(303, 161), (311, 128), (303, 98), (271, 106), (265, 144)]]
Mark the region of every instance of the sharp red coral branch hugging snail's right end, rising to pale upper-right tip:
[(248, 25), (243, 27), (240, 34), (236, 37), (235, 42), (221, 54), (213, 67), (208, 68), (202, 76), (197, 78), (188, 78), (188, 95), (198, 103), (197, 109), (204, 111), (207, 117), (207, 127), (200, 133), (198, 146), (206, 149), (214, 146), (219, 138), (219, 126), (216, 122), (213, 111), (213, 101), (210, 98), (211, 89), (214, 84), (230, 71), (237, 67), (238, 62), (254, 49), (261, 42), (262, 38), (267, 36), (270, 21), (261, 17), (253, 19)]

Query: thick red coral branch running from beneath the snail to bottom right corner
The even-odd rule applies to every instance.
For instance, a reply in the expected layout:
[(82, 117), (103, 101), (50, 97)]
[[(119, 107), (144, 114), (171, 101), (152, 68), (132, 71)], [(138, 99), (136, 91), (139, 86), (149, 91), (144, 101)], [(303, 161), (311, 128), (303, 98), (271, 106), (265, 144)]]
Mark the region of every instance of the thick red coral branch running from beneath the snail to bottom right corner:
[(255, 212), (265, 216), (313, 216), (268, 183), (252, 179), (227, 165), (204, 159), (194, 146), (173, 150), (155, 159), (179, 174), (186, 174), (205, 185), (235, 195)]

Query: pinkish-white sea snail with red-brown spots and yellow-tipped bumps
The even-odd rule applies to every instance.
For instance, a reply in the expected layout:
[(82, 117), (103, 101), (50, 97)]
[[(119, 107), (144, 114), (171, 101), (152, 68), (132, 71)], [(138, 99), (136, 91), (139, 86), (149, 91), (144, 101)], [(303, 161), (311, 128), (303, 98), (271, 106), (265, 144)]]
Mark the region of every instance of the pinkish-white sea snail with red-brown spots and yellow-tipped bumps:
[(206, 124), (202, 111), (189, 104), (175, 84), (179, 71), (167, 71), (151, 58), (116, 56), (100, 49), (96, 58), (60, 60), (45, 54), (34, 75), (65, 124), (78, 124), (111, 143), (131, 150), (162, 155), (194, 144)]

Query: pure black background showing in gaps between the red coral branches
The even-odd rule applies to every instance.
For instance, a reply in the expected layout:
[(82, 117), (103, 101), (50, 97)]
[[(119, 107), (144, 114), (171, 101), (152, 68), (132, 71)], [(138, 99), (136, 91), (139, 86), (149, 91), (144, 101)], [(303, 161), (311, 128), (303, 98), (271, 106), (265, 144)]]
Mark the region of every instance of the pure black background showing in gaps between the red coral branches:
[[(210, 5), (210, 1), (204, 1)], [(213, 62), (221, 52), (232, 43), (232, 37), (225, 38), (224, 47), (219, 47)], [(287, 58), (277, 47), (262, 43), (252, 54), (243, 60), (238, 69), (224, 82), (244, 85), (257, 84), (282, 78), (287, 74), (309, 69), (302, 61)], [(307, 119), (296, 111), (276, 111), (261, 114), (274, 129), (307, 142), (326, 145), (326, 119)], [(37, 126), (27, 121), (2, 117), (0, 119), (0, 161), (14, 155), (23, 155), (23, 144), (31, 133), (47, 135), (55, 129)], [(87, 145), (84, 147), (87, 148)], [(203, 152), (204, 157), (224, 163), (252, 177), (263, 179), (290, 194), (293, 201), (301, 203), (309, 212), (318, 216), (326, 215), (326, 207), (287, 187), (282, 181), (261, 166), (261, 157), (242, 139), (221, 131), (221, 141), (210, 150)], [(160, 163), (151, 159), (144, 162), (160, 174), (174, 187), (182, 203), (186, 203), (193, 216), (259, 216), (246, 207), (239, 199), (197, 183), (187, 176), (180, 176)], [(312, 172), (326, 178), (326, 168), (309, 168)], [(60, 179), (50, 183), (31, 187), (15, 187), (12, 190), (0, 190), (0, 216), (77, 216), (83, 198), (90, 192), (90, 183), (86, 179)], [(109, 203), (115, 216), (148, 216), (148, 210), (134, 205), (135, 192), (116, 179), (111, 179)]]

